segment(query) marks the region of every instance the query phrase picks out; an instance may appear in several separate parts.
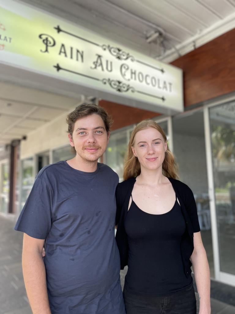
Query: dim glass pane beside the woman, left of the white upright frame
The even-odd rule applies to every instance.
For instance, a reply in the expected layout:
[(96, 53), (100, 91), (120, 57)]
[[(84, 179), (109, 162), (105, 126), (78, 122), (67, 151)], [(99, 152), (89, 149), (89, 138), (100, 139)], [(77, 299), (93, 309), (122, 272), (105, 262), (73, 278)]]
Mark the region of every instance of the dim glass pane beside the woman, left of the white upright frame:
[(193, 191), (201, 229), (201, 238), (206, 250), (211, 277), (215, 277), (212, 246), (212, 228), (208, 191), (205, 132), (203, 110), (191, 110), (172, 119), (173, 144), (179, 180)]

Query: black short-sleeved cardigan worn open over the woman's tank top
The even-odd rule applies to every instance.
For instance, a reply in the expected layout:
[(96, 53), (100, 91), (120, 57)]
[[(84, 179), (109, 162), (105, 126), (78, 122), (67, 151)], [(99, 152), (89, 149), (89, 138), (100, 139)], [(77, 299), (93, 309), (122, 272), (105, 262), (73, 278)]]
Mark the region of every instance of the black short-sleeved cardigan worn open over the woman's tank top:
[[(168, 178), (175, 190), (176, 196), (180, 202), (182, 214), (186, 223), (186, 230), (180, 244), (182, 261), (186, 276), (191, 273), (190, 257), (193, 252), (193, 233), (200, 231), (200, 226), (197, 217), (197, 208), (195, 199), (191, 189), (183, 182)], [(128, 263), (128, 240), (124, 228), (124, 221), (128, 212), (129, 200), (135, 183), (135, 178), (130, 178), (122, 183), (119, 183), (116, 188), (116, 225), (118, 225), (116, 233), (116, 241), (120, 253), (121, 269)], [(174, 261), (172, 261), (174, 262)]]

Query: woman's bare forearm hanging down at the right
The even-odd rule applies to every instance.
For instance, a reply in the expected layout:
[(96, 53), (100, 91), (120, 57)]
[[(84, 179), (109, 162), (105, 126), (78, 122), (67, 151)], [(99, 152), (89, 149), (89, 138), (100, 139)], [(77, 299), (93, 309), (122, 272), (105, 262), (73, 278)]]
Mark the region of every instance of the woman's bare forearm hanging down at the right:
[(190, 259), (193, 265), (200, 300), (199, 314), (210, 314), (210, 269), (206, 257), (206, 251), (201, 241), (201, 232), (195, 232), (193, 239), (194, 250)]

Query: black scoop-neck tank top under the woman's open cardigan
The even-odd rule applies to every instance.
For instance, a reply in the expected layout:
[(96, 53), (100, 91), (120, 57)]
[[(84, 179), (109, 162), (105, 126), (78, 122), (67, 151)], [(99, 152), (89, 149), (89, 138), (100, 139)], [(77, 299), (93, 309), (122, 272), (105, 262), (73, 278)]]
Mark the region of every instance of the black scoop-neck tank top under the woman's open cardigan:
[(125, 285), (139, 294), (170, 295), (190, 286), (180, 253), (186, 230), (177, 200), (165, 214), (149, 214), (132, 200), (126, 220), (128, 271)]

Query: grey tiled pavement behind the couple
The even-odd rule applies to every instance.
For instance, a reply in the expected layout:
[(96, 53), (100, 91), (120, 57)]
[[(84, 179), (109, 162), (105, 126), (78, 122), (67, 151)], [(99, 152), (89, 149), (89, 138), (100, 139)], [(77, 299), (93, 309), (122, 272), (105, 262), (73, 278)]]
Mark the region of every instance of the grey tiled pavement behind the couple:
[[(13, 218), (0, 215), (0, 314), (32, 314), (21, 268), (23, 235), (13, 227)], [(122, 284), (125, 273), (121, 271)], [(235, 314), (235, 306), (215, 299), (211, 303), (212, 314)]]

